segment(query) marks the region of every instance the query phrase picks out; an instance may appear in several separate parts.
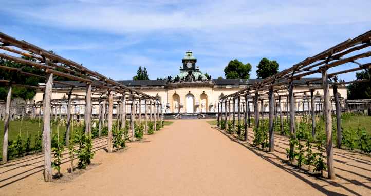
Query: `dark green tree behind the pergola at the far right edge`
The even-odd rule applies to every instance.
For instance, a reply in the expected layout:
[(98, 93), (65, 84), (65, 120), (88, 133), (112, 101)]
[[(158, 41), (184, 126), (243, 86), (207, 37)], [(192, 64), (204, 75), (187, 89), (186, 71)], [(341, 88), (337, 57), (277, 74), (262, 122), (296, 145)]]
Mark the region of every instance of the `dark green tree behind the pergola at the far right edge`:
[[(366, 71), (356, 72), (357, 79), (370, 79), (369, 74), (371, 74), (371, 69), (368, 69), (368, 74)], [(348, 99), (371, 99), (371, 83), (361, 82), (354, 83), (348, 86)]]

